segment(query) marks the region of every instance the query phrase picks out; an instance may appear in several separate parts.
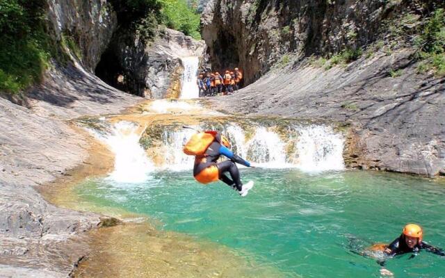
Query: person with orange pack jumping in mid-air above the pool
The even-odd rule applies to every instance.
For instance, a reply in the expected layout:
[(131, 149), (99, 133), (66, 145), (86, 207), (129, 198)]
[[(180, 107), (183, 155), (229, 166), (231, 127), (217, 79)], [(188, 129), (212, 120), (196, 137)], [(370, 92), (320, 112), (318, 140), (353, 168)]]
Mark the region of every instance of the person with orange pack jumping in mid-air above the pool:
[[(211, 183), (213, 181), (223, 181), (241, 195), (245, 197), (253, 187), (253, 181), (245, 185), (241, 183), (240, 173), (235, 163), (252, 167), (248, 161), (232, 153), (229, 140), (220, 135), (218, 131), (204, 131), (196, 133), (184, 146), (184, 153), (195, 156), (193, 167), (193, 177), (200, 183)], [(229, 160), (217, 162), (223, 155)], [(230, 177), (227, 177), (228, 173)]]

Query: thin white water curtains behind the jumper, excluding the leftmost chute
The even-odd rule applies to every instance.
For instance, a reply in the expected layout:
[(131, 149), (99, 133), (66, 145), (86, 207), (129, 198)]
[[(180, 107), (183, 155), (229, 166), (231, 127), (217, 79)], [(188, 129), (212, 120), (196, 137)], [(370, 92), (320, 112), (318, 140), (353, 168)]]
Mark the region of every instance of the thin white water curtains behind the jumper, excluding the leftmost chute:
[[(164, 169), (193, 168), (193, 156), (182, 152), (193, 133), (189, 129), (163, 132)], [(329, 126), (296, 126), (285, 135), (286, 140), (264, 126), (258, 126), (250, 138), (237, 124), (225, 126), (224, 133), (232, 142), (234, 153), (261, 167), (298, 167), (307, 172), (344, 169), (343, 136)]]

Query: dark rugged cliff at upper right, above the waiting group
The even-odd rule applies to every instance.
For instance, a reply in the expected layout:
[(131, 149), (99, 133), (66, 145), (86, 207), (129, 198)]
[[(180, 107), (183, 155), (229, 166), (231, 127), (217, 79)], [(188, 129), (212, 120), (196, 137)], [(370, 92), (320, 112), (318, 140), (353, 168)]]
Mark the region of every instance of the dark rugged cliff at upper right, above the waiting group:
[(241, 67), (250, 84), (289, 52), (328, 56), (369, 44), (379, 28), (387, 31), (382, 22), (416, 2), (213, 0), (202, 15), (202, 38), (215, 70)]

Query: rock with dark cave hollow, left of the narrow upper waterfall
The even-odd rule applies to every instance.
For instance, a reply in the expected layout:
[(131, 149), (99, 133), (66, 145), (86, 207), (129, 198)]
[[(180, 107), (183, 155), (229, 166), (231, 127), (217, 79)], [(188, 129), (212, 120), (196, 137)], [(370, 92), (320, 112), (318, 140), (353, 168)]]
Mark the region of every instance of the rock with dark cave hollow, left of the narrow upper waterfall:
[(151, 99), (178, 97), (183, 70), (181, 57), (203, 57), (204, 42), (168, 28), (162, 29), (153, 42), (146, 43), (123, 32), (115, 34), (97, 67), (97, 75), (134, 95)]

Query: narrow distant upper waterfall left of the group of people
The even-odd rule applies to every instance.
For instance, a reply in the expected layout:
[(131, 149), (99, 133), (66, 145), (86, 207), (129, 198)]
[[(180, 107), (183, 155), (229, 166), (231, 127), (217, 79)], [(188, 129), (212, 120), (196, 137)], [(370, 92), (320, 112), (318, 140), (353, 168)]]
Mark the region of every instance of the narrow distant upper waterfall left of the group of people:
[(200, 97), (200, 90), (197, 87), (197, 69), (200, 63), (197, 56), (182, 57), (184, 73), (181, 79), (181, 99), (197, 99)]

